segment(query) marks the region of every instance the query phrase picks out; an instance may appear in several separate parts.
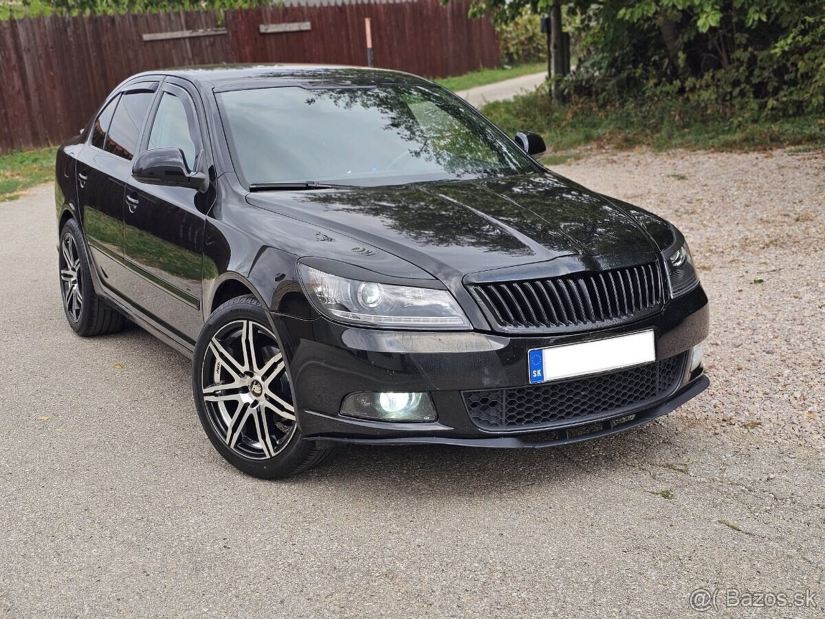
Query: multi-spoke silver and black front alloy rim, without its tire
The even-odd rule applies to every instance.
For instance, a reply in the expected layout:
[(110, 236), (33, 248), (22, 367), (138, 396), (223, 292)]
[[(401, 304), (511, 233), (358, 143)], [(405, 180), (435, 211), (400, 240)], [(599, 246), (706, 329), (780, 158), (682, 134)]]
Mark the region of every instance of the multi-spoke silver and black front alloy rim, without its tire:
[(206, 348), (200, 393), (219, 437), (241, 456), (276, 456), (295, 433), (295, 407), (275, 336), (262, 324), (236, 320)]

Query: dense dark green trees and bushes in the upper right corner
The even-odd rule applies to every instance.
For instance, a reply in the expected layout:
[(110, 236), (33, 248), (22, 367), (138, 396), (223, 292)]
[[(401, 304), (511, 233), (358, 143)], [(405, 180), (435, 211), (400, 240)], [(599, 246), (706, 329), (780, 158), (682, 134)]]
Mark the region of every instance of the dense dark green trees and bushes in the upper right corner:
[[(479, 0), (498, 24), (554, 0)], [(560, 90), (574, 105), (686, 102), (675, 113), (768, 121), (825, 114), (822, 0), (566, 0), (577, 66)]]

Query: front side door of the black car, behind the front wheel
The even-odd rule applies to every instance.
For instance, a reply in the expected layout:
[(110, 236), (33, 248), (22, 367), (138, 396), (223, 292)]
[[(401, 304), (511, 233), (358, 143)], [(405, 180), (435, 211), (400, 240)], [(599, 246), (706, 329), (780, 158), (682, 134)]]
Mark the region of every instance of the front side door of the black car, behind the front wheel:
[[(165, 83), (147, 124), (142, 149), (181, 149), (194, 169), (204, 150), (195, 98)], [(126, 184), (124, 253), (134, 272), (133, 295), (167, 328), (194, 343), (203, 318), (203, 235), (211, 192), (150, 185), (130, 177)]]

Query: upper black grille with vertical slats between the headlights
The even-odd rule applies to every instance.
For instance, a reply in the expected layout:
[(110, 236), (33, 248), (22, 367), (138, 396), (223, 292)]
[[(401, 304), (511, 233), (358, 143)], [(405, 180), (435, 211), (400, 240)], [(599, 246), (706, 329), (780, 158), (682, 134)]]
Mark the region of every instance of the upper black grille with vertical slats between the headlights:
[(469, 290), (505, 331), (570, 330), (618, 324), (662, 305), (657, 262), (546, 279), (472, 284)]

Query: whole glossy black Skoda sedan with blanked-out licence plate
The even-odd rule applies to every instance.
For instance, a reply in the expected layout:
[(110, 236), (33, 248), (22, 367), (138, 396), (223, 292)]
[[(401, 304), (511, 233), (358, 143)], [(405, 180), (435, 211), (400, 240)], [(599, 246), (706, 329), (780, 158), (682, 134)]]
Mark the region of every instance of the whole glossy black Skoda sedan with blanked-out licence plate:
[(542, 151), (407, 73), (141, 73), (59, 149), (68, 322), (193, 357), (210, 441), (258, 477), (637, 427), (708, 386), (705, 291), (676, 228)]

